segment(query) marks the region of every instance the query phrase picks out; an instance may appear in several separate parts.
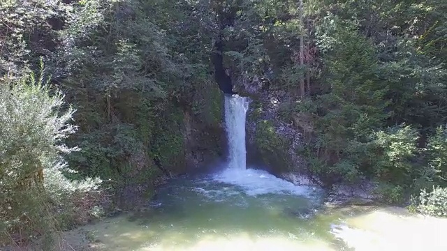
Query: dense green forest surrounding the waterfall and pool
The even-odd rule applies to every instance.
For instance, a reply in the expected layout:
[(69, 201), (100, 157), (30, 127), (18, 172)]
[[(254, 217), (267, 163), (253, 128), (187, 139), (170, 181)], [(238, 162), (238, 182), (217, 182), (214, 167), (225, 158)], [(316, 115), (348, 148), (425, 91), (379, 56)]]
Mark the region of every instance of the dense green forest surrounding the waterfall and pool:
[(218, 158), (233, 91), (277, 96), (301, 174), (447, 215), (446, 63), (444, 0), (3, 0), (0, 241)]

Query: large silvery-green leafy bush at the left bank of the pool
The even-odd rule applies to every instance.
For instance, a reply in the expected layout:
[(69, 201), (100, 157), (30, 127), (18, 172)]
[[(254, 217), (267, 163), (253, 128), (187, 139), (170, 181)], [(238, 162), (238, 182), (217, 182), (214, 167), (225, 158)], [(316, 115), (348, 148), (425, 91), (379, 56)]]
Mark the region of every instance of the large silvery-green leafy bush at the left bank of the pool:
[[(75, 132), (74, 109), (34, 74), (0, 80), (0, 243), (58, 229), (54, 211), (73, 205), (74, 195), (97, 190), (101, 181), (71, 181), (64, 139)], [(65, 208), (64, 208), (65, 207)], [(89, 208), (84, 208), (88, 211)], [(48, 231), (50, 230), (50, 231)]]

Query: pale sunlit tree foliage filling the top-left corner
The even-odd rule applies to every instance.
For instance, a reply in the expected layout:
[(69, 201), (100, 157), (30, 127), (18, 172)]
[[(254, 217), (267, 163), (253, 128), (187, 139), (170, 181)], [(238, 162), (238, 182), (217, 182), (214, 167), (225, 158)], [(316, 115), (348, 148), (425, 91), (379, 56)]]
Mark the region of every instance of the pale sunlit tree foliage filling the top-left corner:
[(58, 0), (1, 1), (0, 77), (20, 76), (26, 66), (38, 63), (38, 55), (50, 56), (57, 38), (52, 24), (57, 26), (57, 17), (64, 18), (66, 7)]

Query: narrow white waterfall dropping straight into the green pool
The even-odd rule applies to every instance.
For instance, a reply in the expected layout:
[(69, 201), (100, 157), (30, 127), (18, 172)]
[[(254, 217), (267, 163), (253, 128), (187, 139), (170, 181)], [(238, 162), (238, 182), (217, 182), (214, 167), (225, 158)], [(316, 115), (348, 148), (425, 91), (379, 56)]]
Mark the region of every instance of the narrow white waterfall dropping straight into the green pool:
[(238, 95), (225, 96), (225, 127), (230, 169), (246, 169), (245, 119), (248, 108), (247, 98)]

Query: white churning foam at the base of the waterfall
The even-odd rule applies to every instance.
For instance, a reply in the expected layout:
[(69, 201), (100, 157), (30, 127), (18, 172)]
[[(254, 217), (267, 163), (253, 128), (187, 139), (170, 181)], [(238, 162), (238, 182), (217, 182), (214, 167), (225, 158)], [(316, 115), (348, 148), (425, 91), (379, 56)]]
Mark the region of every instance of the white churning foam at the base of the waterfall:
[(228, 168), (212, 178), (214, 181), (236, 185), (249, 196), (266, 194), (308, 196), (312, 193), (312, 188), (309, 186), (294, 185), (263, 170)]

